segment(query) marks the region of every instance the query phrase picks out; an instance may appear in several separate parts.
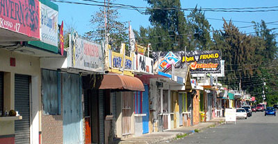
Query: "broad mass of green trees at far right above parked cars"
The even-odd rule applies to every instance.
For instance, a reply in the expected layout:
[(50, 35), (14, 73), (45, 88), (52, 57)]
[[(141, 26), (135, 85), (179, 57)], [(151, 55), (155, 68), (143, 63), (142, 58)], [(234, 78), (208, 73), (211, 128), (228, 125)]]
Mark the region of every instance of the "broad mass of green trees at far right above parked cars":
[(256, 96), (257, 102), (263, 101), (263, 82), (266, 82), (265, 96), (271, 104), (275, 102), (275, 91), (278, 91), (275, 34), (264, 21), (254, 25), (255, 35), (241, 33), (231, 21), (224, 21), (223, 28), (213, 32), (212, 46), (212, 49), (222, 51), (225, 60), (226, 76), (220, 80), (237, 88), (241, 82), (241, 88)]

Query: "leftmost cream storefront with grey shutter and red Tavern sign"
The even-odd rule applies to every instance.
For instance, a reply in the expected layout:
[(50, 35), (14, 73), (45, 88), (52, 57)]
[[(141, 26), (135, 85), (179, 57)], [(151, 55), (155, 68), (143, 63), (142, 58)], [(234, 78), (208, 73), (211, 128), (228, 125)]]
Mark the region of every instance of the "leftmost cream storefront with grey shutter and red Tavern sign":
[[(13, 3), (13, 4), (11, 4)], [(1, 8), (15, 14), (9, 6), (33, 6), (33, 15), (39, 15), (39, 1), (6, 1)], [(13, 10), (12, 10), (13, 9)], [(22, 7), (17, 11), (24, 11)], [(39, 143), (40, 132), (40, 58), (34, 48), (26, 48), (26, 41), (40, 39), (40, 19), (26, 17), (13, 19), (0, 12), (0, 143)], [(4, 23), (3, 22), (3, 23)], [(32, 24), (28, 26), (28, 24)], [(42, 49), (38, 49), (42, 52)], [(45, 53), (44, 53), (45, 54)], [(10, 110), (20, 116), (4, 116)]]

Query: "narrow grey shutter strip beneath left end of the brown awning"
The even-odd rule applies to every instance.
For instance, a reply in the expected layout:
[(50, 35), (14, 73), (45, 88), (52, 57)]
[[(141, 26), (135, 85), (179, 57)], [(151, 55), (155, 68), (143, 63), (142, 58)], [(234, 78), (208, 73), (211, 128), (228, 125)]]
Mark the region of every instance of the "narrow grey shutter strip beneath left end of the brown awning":
[(104, 90), (99, 90), (99, 143), (104, 143)]

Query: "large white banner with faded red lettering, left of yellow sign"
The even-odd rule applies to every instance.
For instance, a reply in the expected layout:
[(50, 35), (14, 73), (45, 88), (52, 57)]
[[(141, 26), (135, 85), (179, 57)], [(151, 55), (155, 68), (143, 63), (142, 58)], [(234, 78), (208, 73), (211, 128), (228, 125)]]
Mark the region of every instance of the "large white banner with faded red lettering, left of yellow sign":
[(104, 73), (101, 45), (81, 39), (77, 33), (70, 35), (70, 68)]

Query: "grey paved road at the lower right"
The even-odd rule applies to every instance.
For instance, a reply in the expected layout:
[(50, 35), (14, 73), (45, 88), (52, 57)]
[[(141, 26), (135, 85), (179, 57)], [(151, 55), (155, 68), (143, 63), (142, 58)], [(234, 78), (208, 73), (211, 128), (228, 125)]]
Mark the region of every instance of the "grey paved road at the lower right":
[(170, 143), (274, 144), (278, 143), (278, 116), (264, 116), (264, 112), (253, 112), (252, 117), (237, 120), (236, 125), (218, 125)]

